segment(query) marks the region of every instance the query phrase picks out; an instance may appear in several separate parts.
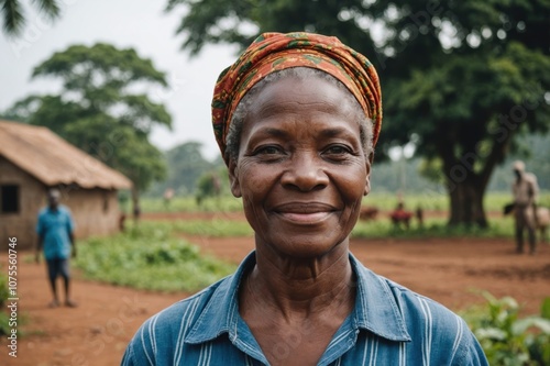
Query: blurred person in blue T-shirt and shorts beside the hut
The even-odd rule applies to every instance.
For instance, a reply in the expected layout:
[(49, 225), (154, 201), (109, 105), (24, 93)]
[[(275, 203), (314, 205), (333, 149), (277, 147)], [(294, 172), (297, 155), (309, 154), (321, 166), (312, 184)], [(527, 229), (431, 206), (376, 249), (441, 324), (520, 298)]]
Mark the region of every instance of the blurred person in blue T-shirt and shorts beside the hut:
[(75, 246), (75, 224), (70, 211), (59, 204), (61, 193), (57, 189), (51, 189), (47, 193), (48, 206), (38, 213), (36, 233), (38, 242), (36, 245), (36, 263), (40, 263), (41, 251), (44, 249), (44, 257), (47, 264), (50, 285), (54, 296), (50, 303), (51, 308), (57, 308), (59, 297), (57, 295), (57, 277), (62, 276), (65, 284), (65, 306), (74, 308), (76, 302), (69, 295), (69, 257), (76, 256)]

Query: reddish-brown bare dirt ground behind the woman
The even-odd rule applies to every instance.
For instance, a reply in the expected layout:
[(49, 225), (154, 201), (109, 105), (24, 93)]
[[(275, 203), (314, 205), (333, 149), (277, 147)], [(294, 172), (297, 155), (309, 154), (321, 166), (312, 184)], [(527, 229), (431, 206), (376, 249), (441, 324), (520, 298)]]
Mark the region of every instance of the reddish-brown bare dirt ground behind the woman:
[[(182, 219), (157, 215), (148, 219)], [(204, 214), (202, 219), (218, 218)], [(239, 218), (233, 218), (239, 220)], [(205, 253), (239, 263), (253, 248), (251, 237), (188, 237)], [(374, 271), (458, 310), (483, 302), (475, 290), (512, 296), (524, 313), (538, 313), (550, 296), (550, 245), (535, 256), (514, 253), (512, 240), (353, 240), (351, 251)], [(24, 336), (18, 357), (8, 356), (0, 340), (0, 365), (118, 365), (140, 324), (188, 293), (158, 293), (85, 281), (75, 274), (78, 308), (48, 309), (45, 265), (23, 260), (20, 253), (19, 320)], [(2, 255), (2, 270), (7, 255)]]

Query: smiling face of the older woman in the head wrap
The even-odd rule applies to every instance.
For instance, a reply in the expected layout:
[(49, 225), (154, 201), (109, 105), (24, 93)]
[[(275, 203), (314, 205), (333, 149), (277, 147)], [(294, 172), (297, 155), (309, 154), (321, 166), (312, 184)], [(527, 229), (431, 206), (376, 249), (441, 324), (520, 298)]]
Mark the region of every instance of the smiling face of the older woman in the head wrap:
[(256, 245), (297, 258), (346, 245), (371, 166), (343, 93), (320, 78), (285, 78), (253, 97), (230, 180)]

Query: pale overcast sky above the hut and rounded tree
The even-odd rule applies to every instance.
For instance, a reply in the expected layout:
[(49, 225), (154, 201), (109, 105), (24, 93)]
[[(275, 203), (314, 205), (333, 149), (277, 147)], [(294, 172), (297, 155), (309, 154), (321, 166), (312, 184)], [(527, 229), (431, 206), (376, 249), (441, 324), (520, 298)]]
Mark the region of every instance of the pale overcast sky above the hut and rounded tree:
[(235, 48), (210, 46), (190, 58), (180, 51), (175, 31), (183, 9), (165, 13), (166, 0), (59, 0), (63, 15), (48, 23), (25, 4), (28, 23), (20, 38), (0, 34), (0, 111), (32, 92), (55, 92), (51, 80), (30, 79), (32, 69), (54, 52), (69, 45), (106, 42), (133, 47), (165, 71), (170, 89), (152, 90), (173, 115), (173, 131), (157, 127), (152, 142), (168, 149), (187, 141), (199, 141), (211, 158), (218, 154), (210, 124), (210, 101), (219, 73), (235, 59)]

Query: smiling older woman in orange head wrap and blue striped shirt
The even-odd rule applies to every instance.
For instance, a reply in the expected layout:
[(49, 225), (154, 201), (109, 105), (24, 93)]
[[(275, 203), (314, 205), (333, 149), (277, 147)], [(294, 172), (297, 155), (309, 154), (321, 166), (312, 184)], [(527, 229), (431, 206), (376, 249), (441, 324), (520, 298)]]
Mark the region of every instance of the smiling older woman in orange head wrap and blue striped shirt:
[(382, 122), (363, 55), (263, 34), (221, 74), (212, 119), (256, 249), (147, 320), (124, 365), (487, 364), (463, 320), (349, 251)]

